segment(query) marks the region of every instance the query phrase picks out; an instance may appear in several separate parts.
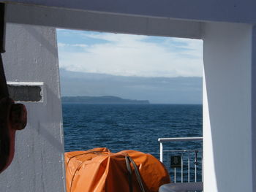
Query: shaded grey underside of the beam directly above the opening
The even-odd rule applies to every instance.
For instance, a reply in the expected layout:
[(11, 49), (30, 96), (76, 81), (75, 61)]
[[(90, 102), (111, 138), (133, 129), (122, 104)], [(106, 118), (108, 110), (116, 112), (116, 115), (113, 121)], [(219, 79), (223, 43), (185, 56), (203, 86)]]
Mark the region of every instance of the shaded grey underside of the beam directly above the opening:
[(23, 4), (7, 4), (5, 16), (9, 23), (25, 23), (35, 26), (165, 37), (201, 38), (201, 23), (191, 20), (152, 18), (141, 15), (122, 15)]

